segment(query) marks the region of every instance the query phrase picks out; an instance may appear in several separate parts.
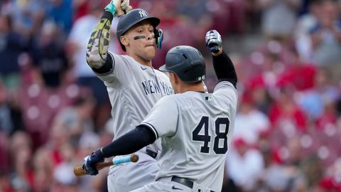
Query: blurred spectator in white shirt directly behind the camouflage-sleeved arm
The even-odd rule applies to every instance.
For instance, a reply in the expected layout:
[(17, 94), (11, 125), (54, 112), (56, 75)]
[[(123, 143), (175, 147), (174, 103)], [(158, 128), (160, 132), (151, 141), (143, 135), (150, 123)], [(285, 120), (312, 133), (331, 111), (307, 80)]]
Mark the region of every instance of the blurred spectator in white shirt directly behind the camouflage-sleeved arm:
[[(110, 116), (110, 107), (108, 107), (109, 97), (107, 94), (107, 87), (99, 80), (92, 72), (85, 53), (87, 50), (88, 39), (94, 27), (103, 12), (103, 7), (100, 6), (99, 1), (90, 1), (89, 14), (78, 18), (73, 24), (71, 31), (67, 37), (67, 53), (70, 55), (73, 64), (73, 74), (77, 85), (88, 87), (92, 90), (95, 101), (97, 102), (94, 114), (96, 126), (104, 126), (105, 121)], [(112, 38), (116, 38), (115, 36)], [(114, 41), (117, 42), (117, 41)], [(117, 46), (119, 47), (119, 46)], [(117, 52), (114, 46), (112, 51)]]

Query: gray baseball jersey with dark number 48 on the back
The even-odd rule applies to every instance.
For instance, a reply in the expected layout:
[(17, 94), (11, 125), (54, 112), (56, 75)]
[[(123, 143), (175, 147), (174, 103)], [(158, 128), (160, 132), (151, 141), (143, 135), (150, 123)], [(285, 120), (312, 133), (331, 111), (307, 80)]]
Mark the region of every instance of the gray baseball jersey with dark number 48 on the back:
[(156, 179), (178, 176), (220, 191), (236, 108), (237, 90), (227, 81), (212, 94), (189, 91), (159, 100), (141, 123), (162, 138)]

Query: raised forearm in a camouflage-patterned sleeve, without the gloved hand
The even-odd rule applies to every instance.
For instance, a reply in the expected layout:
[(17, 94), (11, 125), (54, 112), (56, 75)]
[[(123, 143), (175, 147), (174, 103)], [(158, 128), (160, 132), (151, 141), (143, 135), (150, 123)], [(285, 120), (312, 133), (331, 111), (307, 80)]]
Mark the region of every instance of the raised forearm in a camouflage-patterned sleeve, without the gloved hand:
[[(107, 62), (108, 48), (110, 41), (110, 27), (112, 26), (112, 13), (104, 11), (87, 44), (87, 64), (97, 72), (101, 68), (110, 68), (111, 63)], [(109, 65), (109, 66), (105, 66)]]

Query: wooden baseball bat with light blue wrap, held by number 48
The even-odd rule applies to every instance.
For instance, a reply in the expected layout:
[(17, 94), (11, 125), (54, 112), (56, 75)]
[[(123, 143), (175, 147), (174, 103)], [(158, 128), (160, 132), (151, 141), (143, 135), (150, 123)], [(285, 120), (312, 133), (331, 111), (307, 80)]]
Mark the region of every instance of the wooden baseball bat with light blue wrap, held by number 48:
[[(128, 163), (128, 162), (135, 163), (136, 161), (139, 161), (139, 156), (136, 154), (131, 154), (130, 156), (124, 156), (119, 159), (113, 159), (112, 161), (97, 163), (94, 165), (94, 167), (96, 168), (97, 171), (99, 171), (107, 166), (118, 165), (118, 164), (123, 164), (123, 163)], [(87, 174), (82, 169), (82, 164), (75, 166), (75, 168), (73, 169), (73, 173), (75, 174), (75, 176), (85, 176)]]

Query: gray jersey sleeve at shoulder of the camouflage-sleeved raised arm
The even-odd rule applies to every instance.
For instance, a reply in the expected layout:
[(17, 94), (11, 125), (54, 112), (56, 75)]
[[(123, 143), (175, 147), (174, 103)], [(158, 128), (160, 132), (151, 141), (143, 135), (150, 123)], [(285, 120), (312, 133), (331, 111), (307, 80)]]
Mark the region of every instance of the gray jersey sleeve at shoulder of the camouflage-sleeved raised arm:
[(107, 73), (96, 73), (97, 77), (104, 82), (125, 82), (128, 81), (131, 77), (131, 62), (132, 59), (128, 57), (124, 57), (122, 55), (117, 55), (111, 52), (108, 52), (108, 56), (111, 58), (112, 69)]

